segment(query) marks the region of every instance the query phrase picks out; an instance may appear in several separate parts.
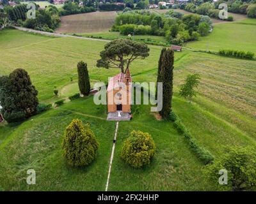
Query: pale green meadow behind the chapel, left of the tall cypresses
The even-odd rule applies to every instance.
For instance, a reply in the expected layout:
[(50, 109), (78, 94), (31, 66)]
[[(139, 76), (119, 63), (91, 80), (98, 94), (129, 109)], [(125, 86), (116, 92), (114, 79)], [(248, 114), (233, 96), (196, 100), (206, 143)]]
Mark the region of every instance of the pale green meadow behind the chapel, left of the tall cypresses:
[[(92, 80), (107, 82), (108, 77), (118, 73), (117, 69), (113, 69), (110, 73), (108, 69), (96, 67), (104, 44), (103, 41), (49, 38), (5, 29), (0, 33), (2, 48), (0, 54), (2, 59), (6, 59), (1, 61), (1, 74), (8, 74), (15, 68), (24, 68), (29, 72), (39, 91), (39, 99), (46, 102), (56, 100), (53, 94), (54, 86), (61, 90), (70, 84), (70, 77), (76, 80), (78, 61), (87, 62)], [(134, 75), (156, 69), (161, 47), (149, 47), (150, 56), (145, 60), (134, 62), (132, 66)], [(177, 54), (177, 57), (183, 54)]]

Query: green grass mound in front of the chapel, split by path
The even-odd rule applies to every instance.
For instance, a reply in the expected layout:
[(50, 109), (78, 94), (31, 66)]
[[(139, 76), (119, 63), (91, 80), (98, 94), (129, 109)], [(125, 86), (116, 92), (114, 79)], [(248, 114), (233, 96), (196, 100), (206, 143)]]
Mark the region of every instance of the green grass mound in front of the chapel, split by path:
[[(84, 168), (70, 168), (61, 157), (63, 131), (74, 118), (89, 122), (100, 143), (97, 158)], [(120, 159), (122, 142), (132, 129), (147, 131), (157, 144), (155, 159), (142, 170), (134, 170)], [(92, 97), (36, 115), (0, 144), (0, 187), (12, 191), (104, 191), (114, 132), (115, 122), (106, 121), (105, 107), (94, 105)], [(29, 168), (36, 171), (36, 185), (26, 184)], [(140, 106), (134, 120), (120, 122), (109, 190), (211, 189), (202, 177), (202, 168), (172, 124), (157, 121), (149, 114), (149, 106)]]

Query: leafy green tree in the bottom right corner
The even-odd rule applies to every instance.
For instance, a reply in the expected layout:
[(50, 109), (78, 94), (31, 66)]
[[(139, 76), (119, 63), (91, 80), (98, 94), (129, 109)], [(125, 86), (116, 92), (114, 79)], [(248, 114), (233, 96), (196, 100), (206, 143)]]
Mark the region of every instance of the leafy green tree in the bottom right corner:
[[(255, 149), (226, 147), (227, 151), (207, 166), (205, 173), (222, 190), (244, 191), (256, 186)], [(220, 170), (227, 170), (227, 184), (220, 185)]]

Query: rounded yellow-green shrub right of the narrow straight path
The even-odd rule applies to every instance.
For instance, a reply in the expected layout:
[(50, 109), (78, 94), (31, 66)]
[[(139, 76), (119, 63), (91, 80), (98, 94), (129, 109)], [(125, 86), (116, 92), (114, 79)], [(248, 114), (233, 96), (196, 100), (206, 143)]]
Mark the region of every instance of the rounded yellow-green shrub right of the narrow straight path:
[(132, 131), (123, 144), (121, 157), (132, 167), (141, 168), (150, 163), (155, 151), (156, 145), (148, 133)]

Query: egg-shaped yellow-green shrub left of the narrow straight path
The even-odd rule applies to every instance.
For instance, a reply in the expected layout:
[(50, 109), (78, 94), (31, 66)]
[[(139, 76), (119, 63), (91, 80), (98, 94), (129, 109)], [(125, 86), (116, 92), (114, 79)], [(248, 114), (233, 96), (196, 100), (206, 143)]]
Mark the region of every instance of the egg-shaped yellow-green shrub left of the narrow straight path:
[(89, 124), (83, 126), (79, 119), (73, 119), (67, 126), (62, 142), (63, 157), (71, 166), (85, 166), (97, 156), (97, 142)]

